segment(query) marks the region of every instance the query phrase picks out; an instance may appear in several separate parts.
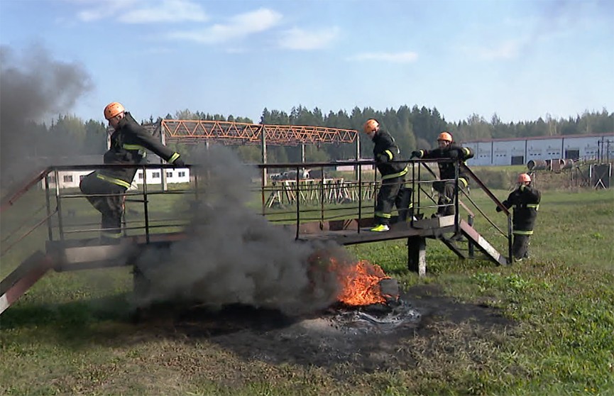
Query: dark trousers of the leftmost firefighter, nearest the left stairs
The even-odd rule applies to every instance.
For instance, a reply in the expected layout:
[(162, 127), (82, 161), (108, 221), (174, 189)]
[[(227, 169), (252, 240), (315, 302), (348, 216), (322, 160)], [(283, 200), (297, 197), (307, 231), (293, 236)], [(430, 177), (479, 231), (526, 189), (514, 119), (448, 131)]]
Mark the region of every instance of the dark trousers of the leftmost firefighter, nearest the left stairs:
[(79, 185), (87, 200), (102, 214), (100, 228), (103, 238), (121, 237), (121, 216), (124, 214), (126, 187), (98, 177), (98, 172), (85, 176)]

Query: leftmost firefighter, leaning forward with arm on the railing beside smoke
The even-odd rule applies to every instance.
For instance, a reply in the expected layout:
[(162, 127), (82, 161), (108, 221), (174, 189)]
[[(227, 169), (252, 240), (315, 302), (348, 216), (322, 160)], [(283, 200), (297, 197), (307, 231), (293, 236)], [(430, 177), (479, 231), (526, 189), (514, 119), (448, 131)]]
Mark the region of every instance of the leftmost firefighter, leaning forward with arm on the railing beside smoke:
[[(144, 158), (145, 149), (163, 158), (168, 163), (185, 166), (174, 153), (151, 136), (137, 123), (124, 106), (117, 102), (104, 108), (104, 118), (114, 128), (111, 148), (104, 153), (105, 164), (138, 164)], [(130, 187), (136, 168), (106, 168), (85, 176), (80, 189), (87, 200), (102, 214), (102, 241), (114, 243), (121, 237), (121, 216), (124, 213), (124, 192)]]

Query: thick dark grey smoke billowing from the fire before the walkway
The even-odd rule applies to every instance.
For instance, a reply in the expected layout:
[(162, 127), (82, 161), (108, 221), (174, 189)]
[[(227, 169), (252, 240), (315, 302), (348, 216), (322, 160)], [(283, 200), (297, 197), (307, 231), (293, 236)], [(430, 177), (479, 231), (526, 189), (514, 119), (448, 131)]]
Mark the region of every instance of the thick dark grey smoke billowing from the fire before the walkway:
[(206, 187), (189, 213), (187, 239), (141, 255), (138, 268), (153, 287), (136, 303), (181, 299), (211, 307), (241, 303), (302, 314), (334, 302), (339, 293), (336, 274), (326, 265), (318, 267), (315, 257), (351, 263), (344, 248), (297, 242), (294, 233), (248, 209), (256, 170), (241, 165), (226, 148), (213, 146), (198, 163), (199, 183), (206, 180)]

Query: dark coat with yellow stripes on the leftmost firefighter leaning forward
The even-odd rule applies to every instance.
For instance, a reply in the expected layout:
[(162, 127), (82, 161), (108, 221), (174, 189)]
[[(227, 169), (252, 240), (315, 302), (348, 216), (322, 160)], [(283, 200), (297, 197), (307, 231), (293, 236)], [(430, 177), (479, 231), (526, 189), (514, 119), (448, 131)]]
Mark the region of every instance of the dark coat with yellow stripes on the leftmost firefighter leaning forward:
[[(111, 148), (104, 153), (105, 164), (138, 164), (145, 157), (145, 149), (151, 150), (168, 163), (179, 158), (170, 148), (157, 141), (141, 124), (126, 111), (125, 116), (111, 135)], [(136, 168), (100, 170), (99, 177), (107, 182), (130, 187)]]

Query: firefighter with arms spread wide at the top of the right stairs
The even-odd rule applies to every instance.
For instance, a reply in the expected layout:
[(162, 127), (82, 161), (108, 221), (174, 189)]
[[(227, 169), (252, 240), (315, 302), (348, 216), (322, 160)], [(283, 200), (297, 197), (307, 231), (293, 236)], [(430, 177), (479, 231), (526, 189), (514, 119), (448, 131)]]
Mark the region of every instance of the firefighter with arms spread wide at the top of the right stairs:
[[(462, 147), (452, 140), (452, 136), (448, 132), (439, 133), (437, 137), (438, 147), (434, 150), (418, 150), (412, 152), (412, 158), (451, 158), (453, 160), (461, 160), (462, 162), (473, 158), (473, 150), (471, 148)], [(454, 163), (438, 163), (439, 179), (433, 183), (433, 188), (439, 193), (437, 200), (436, 217), (450, 216), (456, 213), (454, 207), (454, 196), (456, 187), (454, 184), (455, 171)], [(464, 189), (468, 185), (468, 177), (466, 172), (459, 167), (459, 187)]]

